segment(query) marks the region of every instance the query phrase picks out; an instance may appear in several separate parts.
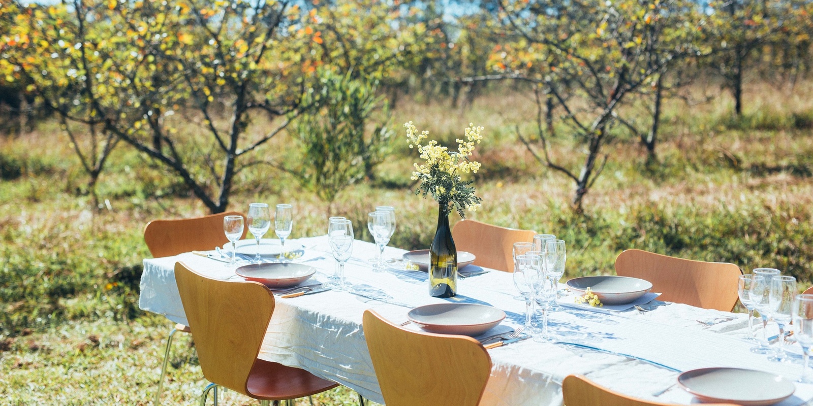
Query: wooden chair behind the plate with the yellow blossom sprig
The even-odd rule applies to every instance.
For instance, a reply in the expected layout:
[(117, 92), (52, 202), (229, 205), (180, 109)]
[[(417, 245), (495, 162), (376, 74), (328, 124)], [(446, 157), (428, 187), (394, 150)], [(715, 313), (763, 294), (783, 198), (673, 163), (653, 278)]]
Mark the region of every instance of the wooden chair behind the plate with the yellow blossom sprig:
[(659, 300), (730, 312), (737, 304), (740, 268), (727, 262), (704, 262), (628, 249), (615, 258), (615, 273), (646, 279)]

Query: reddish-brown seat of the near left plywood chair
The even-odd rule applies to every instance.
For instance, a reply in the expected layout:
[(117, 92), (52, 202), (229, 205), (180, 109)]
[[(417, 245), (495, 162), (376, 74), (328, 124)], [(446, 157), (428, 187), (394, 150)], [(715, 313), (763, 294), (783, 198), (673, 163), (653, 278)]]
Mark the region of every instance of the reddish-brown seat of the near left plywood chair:
[(338, 386), (338, 383), (319, 378), (305, 369), (259, 359), (254, 361), (246, 382), (249, 395), (259, 400), (297, 399)]

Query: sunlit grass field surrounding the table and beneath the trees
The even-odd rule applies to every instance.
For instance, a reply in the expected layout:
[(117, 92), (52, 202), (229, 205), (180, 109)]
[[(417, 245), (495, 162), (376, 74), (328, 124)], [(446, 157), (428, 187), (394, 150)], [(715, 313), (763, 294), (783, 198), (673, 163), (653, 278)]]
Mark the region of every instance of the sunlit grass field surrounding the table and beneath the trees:
[[(412, 195), (411, 162), (400, 123), (413, 120), (443, 140), (469, 122), (485, 126), (476, 187), (477, 220), (551, 232), (567, 240), (566, 277), (612, 274), (625, 248), (707, 261), (743, 270), (774, 266), (813, 276), (813, 85), (783, 93), (748, 89), (741, 119), (720, 97), (701, 106), (667, 103), (659, 164), (621, 132), (606, 145), (609, 161), (585, 198), (585, 214), (568, 208), (572, 184), (540, 166), (517, 140), (515, 124), (532, 129), (533, 101), (523, 93), (481, 97), (467, 110), (448, 102), (402, 100), (393, 111), (398, 145), (373, 182), (339, 194), (333, 213), (354, 221), (367, 240), (366, 215), (376, 205), (398, 210), (391, 244), (425, 248), (437, 205)], [(403, 142), (402, 142), (403, 140)], [(261, 156), (296, 159), (285, 135)], [(554, 159), (577, 167), (580, 147), (562, 128)], [(0, 138), (0, 404), (152, 404), (163, 343), (171, 323), (137, 309), (141, 232), (152, 218), (206, 214), (160, 167), (120, 145), (98, 186), (102, 208), (90, 207), (85, 175), (55, 123), (17, 139)], [(237, 179), (231, 209), (251, 201), (292, 202), (292, 237), (324, 232), (327, 205), (289, 175), (254, 166)], [(453, 218), (456, 220), (456, 218)], [(165, 404), (192, 404), (203, 387), (189, 337), (170, 367)], [(352, 404), (346, 389), (318, 399)], [(253, 404), (228, 393), (221, 404)]]

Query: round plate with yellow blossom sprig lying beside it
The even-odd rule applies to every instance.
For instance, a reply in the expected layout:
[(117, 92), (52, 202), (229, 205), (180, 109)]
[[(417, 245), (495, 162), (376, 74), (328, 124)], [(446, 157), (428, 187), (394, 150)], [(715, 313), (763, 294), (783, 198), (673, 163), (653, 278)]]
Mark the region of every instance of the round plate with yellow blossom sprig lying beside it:
[(588, 287), (603, 304), (627, 304), (649, 293), (652, 283), (628, 276), (584, 276), (567, 281), (567, 288), (576, 295), (583, 295)]

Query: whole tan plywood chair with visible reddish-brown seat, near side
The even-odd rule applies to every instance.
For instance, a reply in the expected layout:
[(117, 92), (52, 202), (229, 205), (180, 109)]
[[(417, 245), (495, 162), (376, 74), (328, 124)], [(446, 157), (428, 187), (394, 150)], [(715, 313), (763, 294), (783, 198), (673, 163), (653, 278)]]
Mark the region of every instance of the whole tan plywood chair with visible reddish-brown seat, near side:
[(338, 386), (305, 369), (257, 358), (274, 313), (274, 296), (262, 283), (210, 279), (181, 262), (175, 264), (175, 280), (203, 376), (212, 382), (203, 390), (201, 405), (215, 385), (261, 400), (260, 404)]

